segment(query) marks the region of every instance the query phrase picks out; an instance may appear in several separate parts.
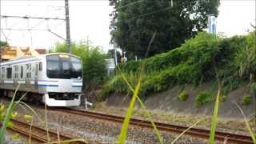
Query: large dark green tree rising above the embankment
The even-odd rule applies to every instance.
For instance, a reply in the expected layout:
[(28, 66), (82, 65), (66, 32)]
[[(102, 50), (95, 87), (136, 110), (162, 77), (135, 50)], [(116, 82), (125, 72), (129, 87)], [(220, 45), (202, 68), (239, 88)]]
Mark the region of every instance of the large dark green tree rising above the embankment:
[(129, 55), (149, 56), (172, 50), (206, 28), (207, 14), (218, 15), (219, 0), (110, 0), (114, 6), (111, 42)]

